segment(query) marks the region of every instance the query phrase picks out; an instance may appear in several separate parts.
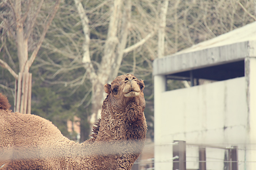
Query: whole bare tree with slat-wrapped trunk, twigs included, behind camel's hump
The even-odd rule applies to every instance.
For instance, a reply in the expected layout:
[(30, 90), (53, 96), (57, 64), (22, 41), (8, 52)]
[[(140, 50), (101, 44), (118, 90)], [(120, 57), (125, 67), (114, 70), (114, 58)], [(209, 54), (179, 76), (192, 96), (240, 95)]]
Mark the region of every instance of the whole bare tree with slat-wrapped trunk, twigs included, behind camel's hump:
[[(43, 3), (43, 0), (4, 0), (0, 3), (0, 6), (3, 8), (0, 13), (1, 49), (4, 47), (5, 52), (9, 54), (10, 49), (6, 46), (4, 37), (11, 36), (17, 47), (19, 73), (16, 73), (2, 59), (0, 59), (0, 65), (6, 68), (16, 80), (14, 111), (21, 113), (30, 113), (32, 74), (29, 73), (29, 68), (33, 64), (50, 23), (59, 8), (60, 0), (57, 0), (52, 8), (49, 8), (45, 21), (42, 24), (41, 34), (36, 37), (36, 40), (29, 42), (32, 41), (33, 30), (35, 29)], [(29, 51), (31, 51), (30, 57)], [(10, 58), (13, 58), (13, 56), (10, 56)]]

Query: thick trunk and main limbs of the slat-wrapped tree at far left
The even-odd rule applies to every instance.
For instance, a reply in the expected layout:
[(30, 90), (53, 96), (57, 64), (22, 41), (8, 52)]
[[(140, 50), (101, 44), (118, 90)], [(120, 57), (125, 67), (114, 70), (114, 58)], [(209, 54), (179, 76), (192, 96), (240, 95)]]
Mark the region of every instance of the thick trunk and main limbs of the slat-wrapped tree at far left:
[[(28, 39), (33, 30), (33, 26), (36, 23), (36, 16), (38, 15), (43, 1), (40, 2), (37, 7), (36, 13), (34, 13), (33, 20), (29, 20), (26, 14), (22, 14), (21, 0), (15, 0), (14, 15), (16, 18), (16, 46), (17, 56), (19, 59), (19, 74), (14, 76), (15, 81), (15, 97), (14, 97), (14, 112), (31, 113), (31, 91), (32, 91), (32, 74), (29, 73), (29, 68), (33, 64), (37, 52), (42, 45), (46, 32), (50, 23), (59, 8), (60, 0), (57, 0), (52, 11), (48, 14), (45, 20), (45, 27), (43, 28), (42, 35), (36, 43), (36, 48), (33, 50), (30, 58), (28, 58)], [(28, 6), (29, 8), (30, 6)], [(29, 10), (29, 9), (27, 9)], [(26, 27), (26, 32), (24, 32)], [(3, 62), (3, 61), (1, 61)], [(8, 67), (6, 67), (8, 69)], [(12, 69), (9, 69), (9, 71)]]

